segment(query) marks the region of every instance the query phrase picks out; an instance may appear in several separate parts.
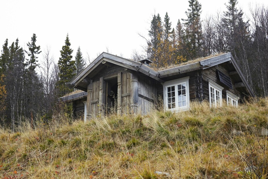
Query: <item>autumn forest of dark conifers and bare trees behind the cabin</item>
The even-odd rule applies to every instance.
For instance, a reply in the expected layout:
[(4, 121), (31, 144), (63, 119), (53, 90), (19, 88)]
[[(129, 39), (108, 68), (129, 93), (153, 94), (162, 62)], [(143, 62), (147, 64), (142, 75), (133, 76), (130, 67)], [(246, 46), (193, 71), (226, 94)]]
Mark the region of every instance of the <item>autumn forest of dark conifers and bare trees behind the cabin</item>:
[[(229, 0), (222, 12), (201, 19), (201, 3), (198, 0), (188, 3), (187, 18), (178, 17), (176, 26), (170, 21), (168, 12), (163, 15), (155, 12), (148, 35), (139, 34), (141, 44), (145, 41), (146, 45), (142, 46), (142, 51), (133, 50), (131, 59), (147, 58), (154, 62), (155, 68), (162, 68), (231, 52), (255, 94), (267, 96), (268, 7), (256, 5), (245, 14), (237, 0)], [(25, 120), (33, 123), (38, 118), (48, 122), (64, 108), (58, 104), (58, 97), (73, 91), (66, 83), (92, 60), (88, 53), (82, 54), (80, 47), (73, 52), (70, 41), (67, 34), (62, 49), (59, 49), (58, 62), (49, 47), (38, 45), (36, 34), (23, 47), (19, 39), (3, 42), (0, 57), (1, 125), (15, 130)], [(109, 53), (108, 47), (106, 51)]]

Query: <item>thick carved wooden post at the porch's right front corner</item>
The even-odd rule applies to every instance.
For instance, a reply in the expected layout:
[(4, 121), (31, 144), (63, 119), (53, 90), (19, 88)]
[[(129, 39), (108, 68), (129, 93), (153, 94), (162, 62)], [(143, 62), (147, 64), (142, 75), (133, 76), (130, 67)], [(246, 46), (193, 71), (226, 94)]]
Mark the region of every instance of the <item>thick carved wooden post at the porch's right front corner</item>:
[(135, 74), (130, 74), (130, 102), (131, 109), (137, 113), (138, 109), (138, 78)]

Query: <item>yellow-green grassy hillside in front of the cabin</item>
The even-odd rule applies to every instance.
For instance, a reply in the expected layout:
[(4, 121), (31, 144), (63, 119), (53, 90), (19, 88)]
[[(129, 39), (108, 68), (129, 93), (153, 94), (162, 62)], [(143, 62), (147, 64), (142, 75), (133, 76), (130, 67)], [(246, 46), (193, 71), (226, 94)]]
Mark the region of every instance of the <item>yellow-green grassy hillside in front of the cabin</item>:
[(267, 178), (268, 98), (0, 130), (1, 178)]

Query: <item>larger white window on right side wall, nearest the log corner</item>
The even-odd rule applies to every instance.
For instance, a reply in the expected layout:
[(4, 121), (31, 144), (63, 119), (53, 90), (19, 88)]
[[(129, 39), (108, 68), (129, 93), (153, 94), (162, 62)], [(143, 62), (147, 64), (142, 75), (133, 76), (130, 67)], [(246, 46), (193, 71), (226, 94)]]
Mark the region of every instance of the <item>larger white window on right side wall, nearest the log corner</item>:
[(209, 89), (209, 103), (210, 107), (222, 106), (222, 90), (223, 87), (216, 84), (215, 82), (208, 80)]

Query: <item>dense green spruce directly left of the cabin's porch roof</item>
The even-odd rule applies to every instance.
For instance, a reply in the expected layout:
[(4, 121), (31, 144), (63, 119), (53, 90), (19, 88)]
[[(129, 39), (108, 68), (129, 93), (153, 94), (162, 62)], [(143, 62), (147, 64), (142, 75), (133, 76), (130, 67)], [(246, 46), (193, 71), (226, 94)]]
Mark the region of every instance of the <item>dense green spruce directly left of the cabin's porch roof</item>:
[(68, 93), (72, 91), (69, 89), (65, 83), (69, 83), (76, 74), (75, 61), (72, 60), (73, 50), (70, 48), (71, 43), (69, 41), (69, 35), (67, 34), (65, 39), (65, 45), (62, 46), (62, 50), (60, 50), (60, 58), (58, 61), (59, 68), (59, 81), (57, 82), (57, 86), (59, 88), (60, 95)]

